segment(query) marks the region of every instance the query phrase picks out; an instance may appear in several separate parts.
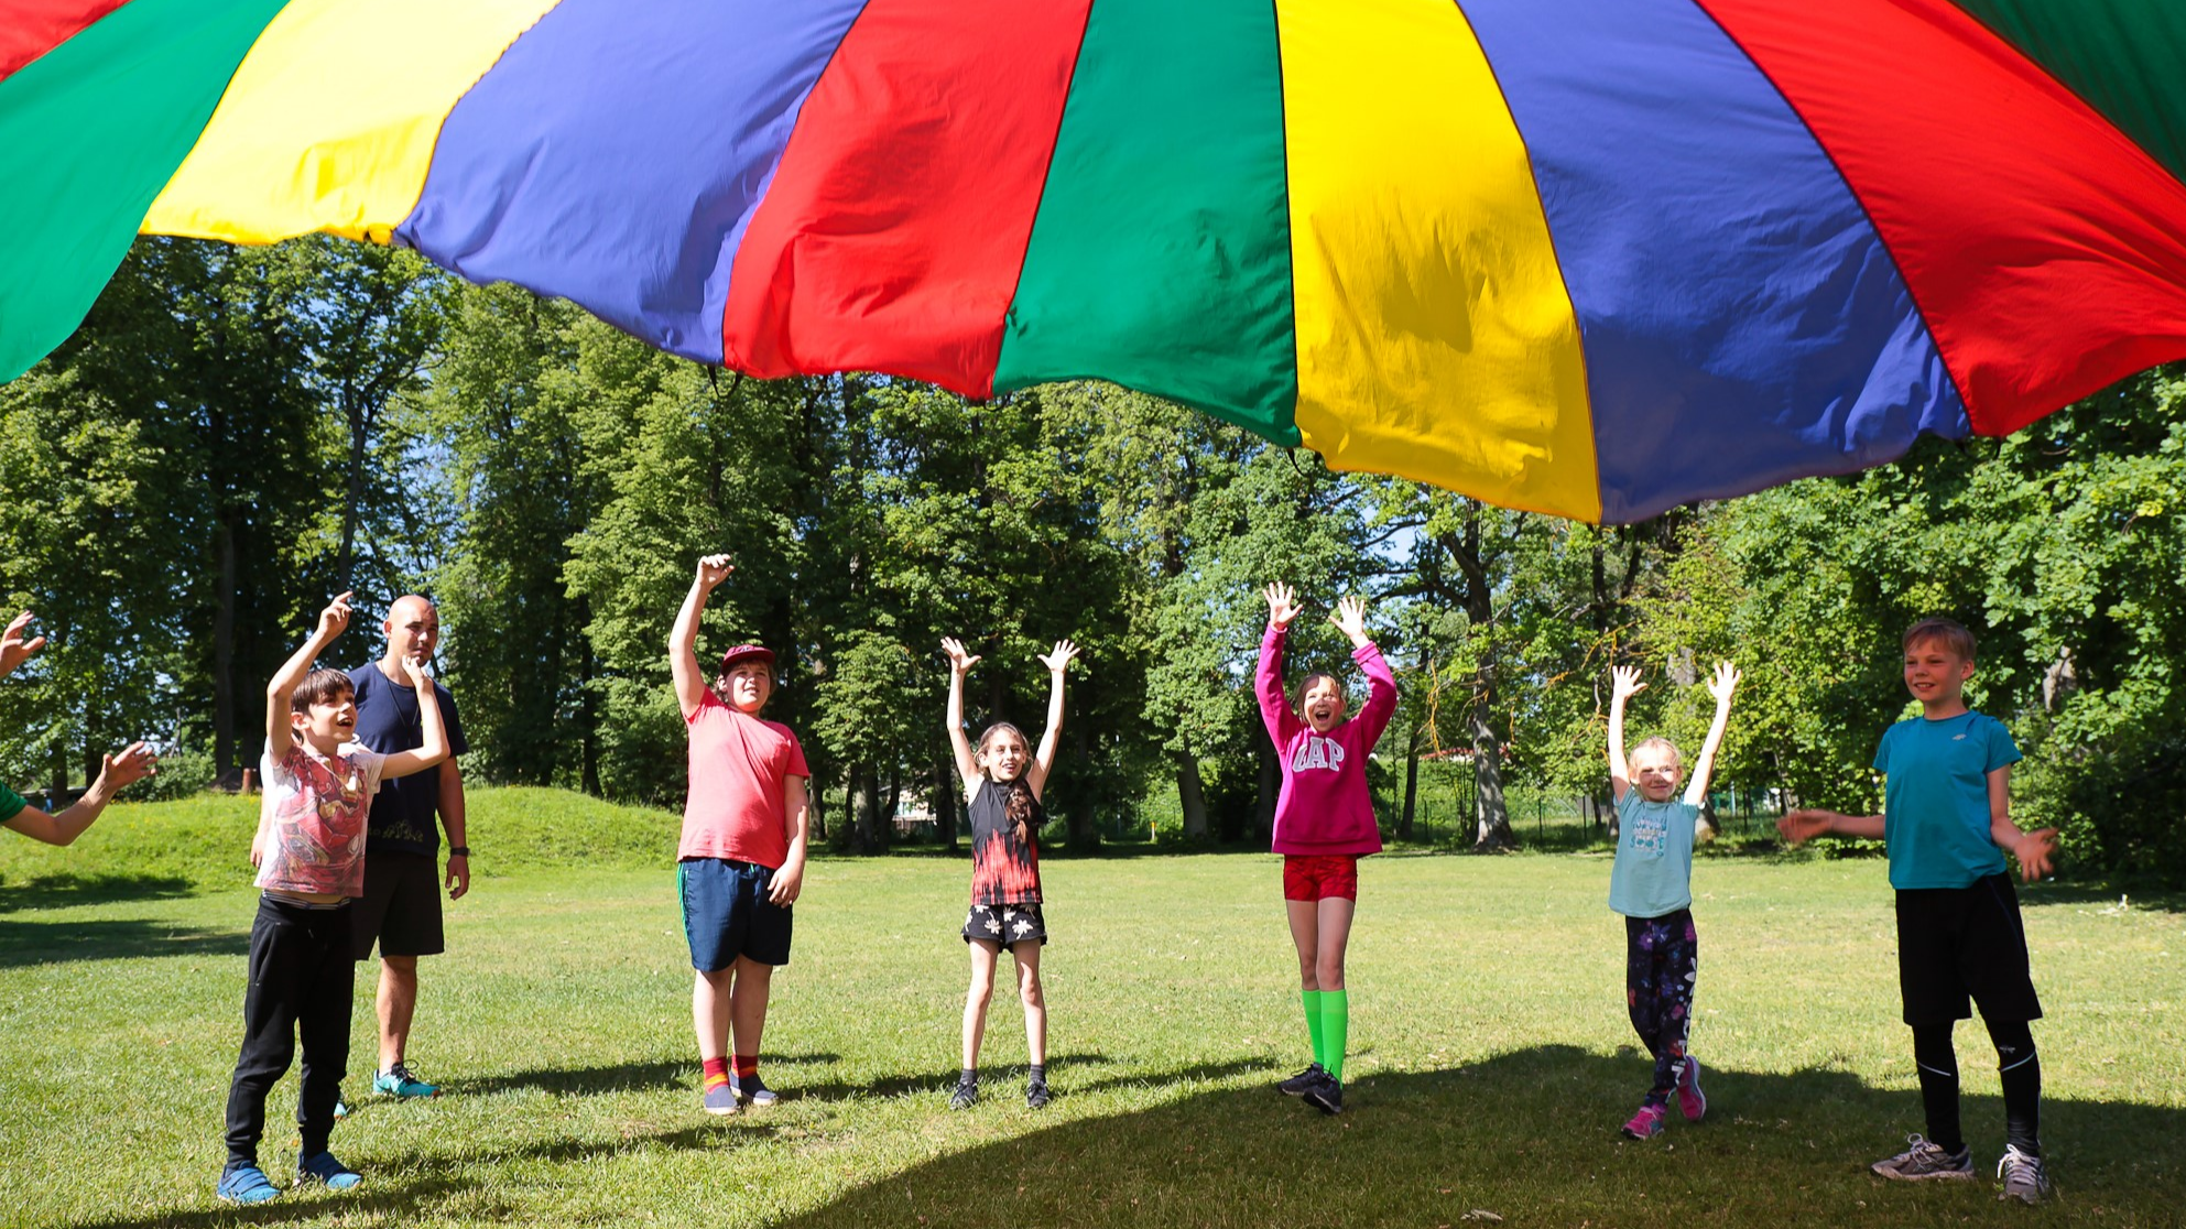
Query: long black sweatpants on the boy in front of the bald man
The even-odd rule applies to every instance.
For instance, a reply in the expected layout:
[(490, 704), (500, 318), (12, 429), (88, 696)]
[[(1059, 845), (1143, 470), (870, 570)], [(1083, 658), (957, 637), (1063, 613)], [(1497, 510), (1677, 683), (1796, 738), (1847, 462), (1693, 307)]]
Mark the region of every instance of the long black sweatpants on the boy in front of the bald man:
[(258, 899), (251, 923), (251, 984), (243, 995), (243, 1052), (227, 1087), (227, 1168), (256, 1166), (267, 1128), (267, 1091), (295, 1061), (304, 1039), (304, 1089), (295, 1104), (302, 1155), (326, 1150), (334, 1102), (350, 1067), (350, 993), (356, 953), (350, 905), (315, 910)]

